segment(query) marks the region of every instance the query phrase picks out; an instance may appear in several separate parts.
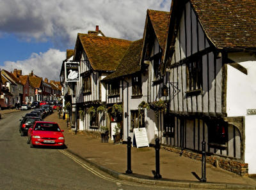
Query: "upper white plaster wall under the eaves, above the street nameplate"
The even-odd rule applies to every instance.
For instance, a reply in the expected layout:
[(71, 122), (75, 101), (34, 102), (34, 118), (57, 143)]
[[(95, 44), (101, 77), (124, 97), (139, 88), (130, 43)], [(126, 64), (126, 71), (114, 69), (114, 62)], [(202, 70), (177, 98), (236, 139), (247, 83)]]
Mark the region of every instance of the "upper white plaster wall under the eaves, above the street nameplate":
[(256, 57), (249, 54), (228, 54), (228, 57), (246, 68), (248, 75), (227, 66), (227, 115), (244, 116), (247, 109), (256, 108)]

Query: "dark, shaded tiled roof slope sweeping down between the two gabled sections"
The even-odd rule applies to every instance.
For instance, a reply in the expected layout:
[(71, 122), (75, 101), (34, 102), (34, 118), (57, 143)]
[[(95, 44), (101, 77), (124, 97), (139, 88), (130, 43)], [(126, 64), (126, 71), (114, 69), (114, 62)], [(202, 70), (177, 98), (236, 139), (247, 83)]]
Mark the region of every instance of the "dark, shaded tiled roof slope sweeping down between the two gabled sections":
[(143, 39), (132, 42), (128, 50), (125, 52), (120, 64), (118, 64), (116, 71), (108, 75), (103, 80), (111, 80), (113, 78), (131, 75), (140, 71), (140, 58), (143, 46)]

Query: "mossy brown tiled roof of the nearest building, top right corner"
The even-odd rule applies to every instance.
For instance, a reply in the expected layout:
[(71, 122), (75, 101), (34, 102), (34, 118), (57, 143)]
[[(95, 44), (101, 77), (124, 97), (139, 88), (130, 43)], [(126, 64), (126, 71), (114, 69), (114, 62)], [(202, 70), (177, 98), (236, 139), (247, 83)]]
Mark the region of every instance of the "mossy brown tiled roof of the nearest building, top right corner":
[(255, 0), (190, 0), (217, 48), (256, 47)]

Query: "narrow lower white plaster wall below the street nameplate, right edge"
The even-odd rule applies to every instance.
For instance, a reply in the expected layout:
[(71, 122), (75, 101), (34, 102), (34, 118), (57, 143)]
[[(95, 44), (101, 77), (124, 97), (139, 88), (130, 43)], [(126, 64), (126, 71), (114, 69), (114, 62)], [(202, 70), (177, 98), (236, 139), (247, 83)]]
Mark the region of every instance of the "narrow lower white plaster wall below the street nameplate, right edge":
[(248, 163), (248, 173), (256, 173), (255, 162), (255, 134), (256, 134), (256, 115), (245, 116), (245, 150), (244, 150), (244, 162)]

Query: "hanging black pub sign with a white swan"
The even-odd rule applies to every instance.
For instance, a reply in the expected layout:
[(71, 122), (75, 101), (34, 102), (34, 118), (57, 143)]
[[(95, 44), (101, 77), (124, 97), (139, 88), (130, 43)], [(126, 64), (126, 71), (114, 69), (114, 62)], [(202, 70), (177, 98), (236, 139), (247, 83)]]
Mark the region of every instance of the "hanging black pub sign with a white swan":
[(65, 62), (65, 81), (78, 82), (80, 78), (79, 62)]

